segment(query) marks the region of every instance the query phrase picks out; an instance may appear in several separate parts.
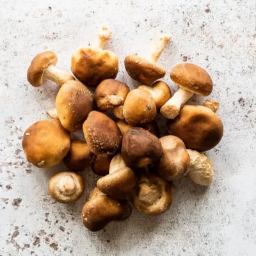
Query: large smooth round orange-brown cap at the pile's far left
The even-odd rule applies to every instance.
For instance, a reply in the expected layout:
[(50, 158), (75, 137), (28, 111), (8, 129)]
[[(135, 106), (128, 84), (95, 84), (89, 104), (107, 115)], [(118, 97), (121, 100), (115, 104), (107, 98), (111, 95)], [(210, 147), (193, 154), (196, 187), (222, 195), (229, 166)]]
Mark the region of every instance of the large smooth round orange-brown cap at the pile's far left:
[(22, 148), (29, 163), (38, 168), (51, 167), (67, 155), (70, 134), (57, 119), (40, 120), (24, 132)]

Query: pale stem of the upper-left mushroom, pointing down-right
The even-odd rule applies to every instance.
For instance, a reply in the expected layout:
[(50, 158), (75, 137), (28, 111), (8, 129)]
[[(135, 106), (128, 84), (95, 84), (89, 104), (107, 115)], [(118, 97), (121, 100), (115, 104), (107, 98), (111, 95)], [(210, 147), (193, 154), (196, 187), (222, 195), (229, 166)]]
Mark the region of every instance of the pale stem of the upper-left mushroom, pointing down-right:
[(56, 68), (54, 65), (49, 65), (45, 68), (43, 79), (51, 80), (52, 82), (59, 84), (65, 84), (67, 81), (75, 80), (68, 72)]

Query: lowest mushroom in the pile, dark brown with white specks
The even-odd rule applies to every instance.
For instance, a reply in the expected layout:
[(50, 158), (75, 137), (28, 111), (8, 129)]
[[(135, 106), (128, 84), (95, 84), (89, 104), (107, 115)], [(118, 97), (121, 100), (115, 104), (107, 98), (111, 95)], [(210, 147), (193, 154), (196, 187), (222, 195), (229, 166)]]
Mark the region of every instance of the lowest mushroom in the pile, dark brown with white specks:
[(127, 200), (118, 201), (102, 195), (98, 188), (90, 193), (89, 201), (84, 204), (81, 218), (88, 230), (96, 232), (111, 221), (124, 221), (131, 215), (132, 208)]

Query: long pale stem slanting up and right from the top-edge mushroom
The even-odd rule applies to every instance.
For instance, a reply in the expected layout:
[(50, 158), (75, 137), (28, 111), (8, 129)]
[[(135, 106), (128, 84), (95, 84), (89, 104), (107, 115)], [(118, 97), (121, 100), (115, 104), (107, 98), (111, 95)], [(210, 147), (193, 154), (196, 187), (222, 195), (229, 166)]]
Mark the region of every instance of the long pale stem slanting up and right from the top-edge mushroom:
[(157, 63), (157, 60), (159, 59), (161, 53), (163, 52), (164, 47), (166, 47), (170, 39), (171, 36), (164, 36), (154, 40), (152, 45), (150, 45), (147, 60)]

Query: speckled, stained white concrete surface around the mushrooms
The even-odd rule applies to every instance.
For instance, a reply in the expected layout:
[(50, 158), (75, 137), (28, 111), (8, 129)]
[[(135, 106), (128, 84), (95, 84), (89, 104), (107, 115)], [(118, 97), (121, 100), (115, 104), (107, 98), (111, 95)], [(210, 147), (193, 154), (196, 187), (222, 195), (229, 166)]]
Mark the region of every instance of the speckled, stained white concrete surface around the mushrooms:
[[(133, 0), (0, 2), (0, 255), (256, 255), (256, 2), (255, 0)], [(61, 165), (39, 170), (29, 164), (21, 140), (26, 128), (54, 105), (58, 86), (33, 88), (26, 70), (33, 56), (56, 52), (58, 67), (88, 45), (104, 24), (106, 45), (120, 58), (118, 79), (136, 86), (124, 58), (143, 52), (157, 35), (172, 43), (159, 63), (172, 92), (170, 68), (180, 61), (206, 68), (219, 100), (223, 140), (207, 152), (216, 177), (211, 188), (188, 177), (175, 182), (172, 209), (158, 217), (137, 211), (122, 223), (92, 233), (80, 220), (96, 175), (83, 173), (86, 193), (74, 205), (56, 204), (47, 181)], [(202, 102), (193, 97), (192, 104)]]

